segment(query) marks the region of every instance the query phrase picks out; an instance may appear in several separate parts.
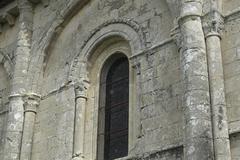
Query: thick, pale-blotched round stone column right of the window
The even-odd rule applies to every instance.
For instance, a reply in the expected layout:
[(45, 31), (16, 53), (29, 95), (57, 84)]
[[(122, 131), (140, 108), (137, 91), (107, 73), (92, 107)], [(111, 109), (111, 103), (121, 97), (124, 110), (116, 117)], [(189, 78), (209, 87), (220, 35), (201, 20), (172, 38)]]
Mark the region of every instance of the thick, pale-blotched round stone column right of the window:
[(182, 0), (177, 35), (183, 81), (184, 159), (212, 160), (213, 140), (202, 1)]

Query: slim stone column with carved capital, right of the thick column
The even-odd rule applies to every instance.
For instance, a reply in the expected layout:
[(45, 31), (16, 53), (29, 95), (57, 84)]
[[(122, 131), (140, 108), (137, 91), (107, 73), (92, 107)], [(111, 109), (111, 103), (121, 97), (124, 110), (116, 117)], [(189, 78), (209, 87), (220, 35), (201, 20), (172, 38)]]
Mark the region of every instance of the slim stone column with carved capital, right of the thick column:
[(213, 10), (204, 17), (204, 21), (208, 55), (215, 159), (231, 160), (220, 42), (220, 31), (223, 27), (224, 20), (218, 11)]

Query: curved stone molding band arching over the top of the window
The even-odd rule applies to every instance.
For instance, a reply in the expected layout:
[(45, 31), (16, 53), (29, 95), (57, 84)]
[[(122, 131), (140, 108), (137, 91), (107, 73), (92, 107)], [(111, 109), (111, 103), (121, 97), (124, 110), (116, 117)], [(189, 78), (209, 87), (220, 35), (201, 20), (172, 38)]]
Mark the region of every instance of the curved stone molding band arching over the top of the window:
[(94, 48), (111, 37), (121, 37), (128, 41), (133, 54), (139, 54), (146, 49), (146, 38), (142, 27), (137, 22), (125, 18), (108, 20), (92, 30), (80, 47), (80, 52), (72, 62), (70, 81), (75, 81), (74, 79), (78, 77), (81, 63), (89, 60)]

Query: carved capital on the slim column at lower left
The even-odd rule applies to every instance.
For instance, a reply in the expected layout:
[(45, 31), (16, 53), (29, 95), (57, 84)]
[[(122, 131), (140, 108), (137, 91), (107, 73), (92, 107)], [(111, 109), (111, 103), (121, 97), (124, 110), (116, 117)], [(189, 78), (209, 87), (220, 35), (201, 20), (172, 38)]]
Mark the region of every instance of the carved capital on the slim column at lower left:
[(24, 101), (24, 113), (26, 112), (37, 112), (37, 107), (39, 106), (40, 103), (40, 96), (36, 94), (27, 94), (23, 96), (23, 101)]

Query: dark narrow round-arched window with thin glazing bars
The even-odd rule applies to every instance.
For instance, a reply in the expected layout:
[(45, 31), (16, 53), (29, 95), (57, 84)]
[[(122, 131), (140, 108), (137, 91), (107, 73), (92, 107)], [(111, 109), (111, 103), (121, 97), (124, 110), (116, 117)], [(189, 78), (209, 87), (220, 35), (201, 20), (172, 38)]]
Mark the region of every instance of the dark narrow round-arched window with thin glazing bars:
[(100, 120), (104, 123), (104, 140), (98, 145), (98, 151), (104, 151), (102, 158), (98, 159), (104, 160), (125, 157), (128, 154), (129, 62), (123, 55), (116, 57), (110, 58), (110, 63), (105, 64), (107, 69), (102, 71), (105, 77), (101, 78), (100, 86), (100, 97), (104, 99), (100, 99), (100, 103), (104, 102), (102, 105), (105, 116), (101, 116), (104, 121)]

